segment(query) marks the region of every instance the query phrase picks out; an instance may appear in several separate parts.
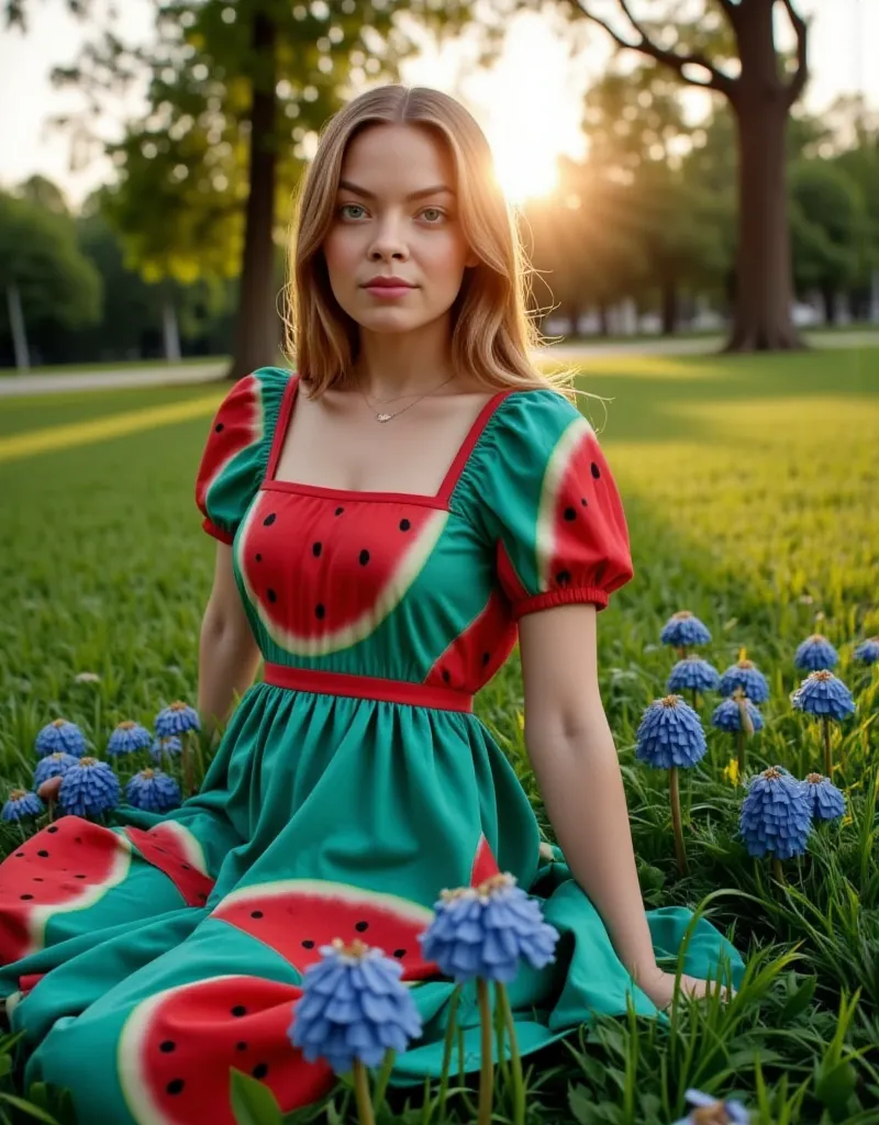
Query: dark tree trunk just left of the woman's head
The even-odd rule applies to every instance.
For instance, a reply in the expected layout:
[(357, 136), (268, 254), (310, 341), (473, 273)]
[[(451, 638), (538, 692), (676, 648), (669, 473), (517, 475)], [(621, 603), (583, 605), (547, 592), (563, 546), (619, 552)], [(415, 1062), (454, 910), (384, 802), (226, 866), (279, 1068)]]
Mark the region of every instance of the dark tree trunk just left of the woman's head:
[(240, 379), (271, 366), (278, 351), (275, 302), (275, 107), (276, 28), (269, 16), (253, 19), (254, 56), (263, 68), (253, 78), (250, 112), (250, 195), (244, 224), (237, 326), (228, 378)]

